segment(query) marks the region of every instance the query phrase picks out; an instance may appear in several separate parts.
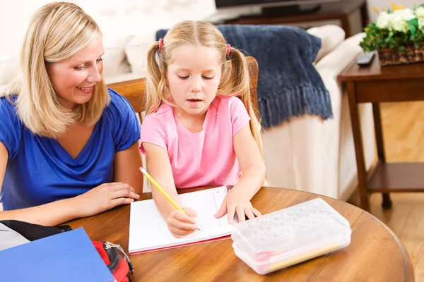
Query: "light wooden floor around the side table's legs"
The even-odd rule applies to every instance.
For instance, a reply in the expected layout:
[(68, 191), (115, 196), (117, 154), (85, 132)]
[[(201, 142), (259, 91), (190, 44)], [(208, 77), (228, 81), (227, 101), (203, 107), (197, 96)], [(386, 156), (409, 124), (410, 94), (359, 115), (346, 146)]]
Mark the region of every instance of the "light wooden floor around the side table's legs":
[[(424, 102), (382, 104), (384, 147), (389, 162), (424, 162)], [(424, 171), (423, 171), (424, 177)], [(381, 207), (381, 194), (372, 194), (371, 213), (398, 235), (408, 251), (416, 281), (424, 281), (424, 192), (391, 194), (393, 207)], [(359, 204), (358, 193), (349, 200)]]

